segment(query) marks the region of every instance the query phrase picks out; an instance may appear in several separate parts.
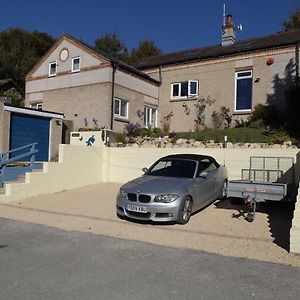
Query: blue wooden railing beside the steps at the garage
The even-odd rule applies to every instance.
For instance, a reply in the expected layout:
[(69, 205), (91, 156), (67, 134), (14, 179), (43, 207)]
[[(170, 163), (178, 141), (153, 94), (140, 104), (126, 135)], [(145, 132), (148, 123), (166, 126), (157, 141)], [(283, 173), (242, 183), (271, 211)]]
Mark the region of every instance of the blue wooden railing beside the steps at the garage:
[[(22, 150), (25, 151), (25, 149), (28, 149), (27, 152), (22, 153), (22, 154), (17, 154), (16, 156), (12, 155), (14, 153), (18, 153)], [(33, 164), (35, 162), (35, 155), (38, 153), (37, 149), (37, 143), (29, 144), (20, 148), (13, 149), (8, 152), (3, 152), (0, 153), (0, 187), (3, 186), (3, 182), (6, 180), (6, 168), (9, 163), (20, 161), (20, 159), (25, 158), (25, 157), (30, 157), (30, 167), (33, 167)]]

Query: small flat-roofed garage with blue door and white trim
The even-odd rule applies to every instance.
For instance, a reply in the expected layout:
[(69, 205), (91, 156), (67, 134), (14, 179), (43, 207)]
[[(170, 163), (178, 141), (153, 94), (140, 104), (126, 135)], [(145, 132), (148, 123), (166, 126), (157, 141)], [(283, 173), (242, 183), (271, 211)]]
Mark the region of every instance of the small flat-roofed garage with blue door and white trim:
[[(0, 122), (0, 125), (3, 126), (2, 137), (0, 134), (2, 152), (37, 143), (38, 153), (35, 160), (53, 161), (58, 156), (58, 145), (62, 139), (63, 119), (64, 114), (62, 113), (14, 107), (5, 103), (2, 108), (2, 123)], [(14, 151), (10, 157), (24, 154), (29, 150), (27, 147), (20, 151)], [(26, 158), (22, 158), (22, 161), (24, 160)]]

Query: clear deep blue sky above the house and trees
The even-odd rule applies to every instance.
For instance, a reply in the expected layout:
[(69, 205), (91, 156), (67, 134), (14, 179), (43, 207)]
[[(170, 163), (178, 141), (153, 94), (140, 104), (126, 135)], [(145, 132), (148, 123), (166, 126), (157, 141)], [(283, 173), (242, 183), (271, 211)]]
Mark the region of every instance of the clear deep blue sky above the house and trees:
[(243, 25), (239, 40), (280, 31), (300, 7), (300, 0), (0, 0), (0, 31), (68, 33), (90, 45), (115, 31), (129, 49), (148, 38), (168, 53), (219, 44), (224, 2)]

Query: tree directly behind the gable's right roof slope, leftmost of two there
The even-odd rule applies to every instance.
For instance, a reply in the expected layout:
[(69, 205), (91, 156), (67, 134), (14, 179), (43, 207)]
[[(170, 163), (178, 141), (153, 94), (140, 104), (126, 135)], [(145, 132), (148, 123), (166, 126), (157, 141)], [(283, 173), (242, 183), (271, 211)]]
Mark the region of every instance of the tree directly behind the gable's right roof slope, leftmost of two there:
[(95, 41), (95, 48), (113, 58), (128, 61), (128, 49), (116, 32), (106, 33)]

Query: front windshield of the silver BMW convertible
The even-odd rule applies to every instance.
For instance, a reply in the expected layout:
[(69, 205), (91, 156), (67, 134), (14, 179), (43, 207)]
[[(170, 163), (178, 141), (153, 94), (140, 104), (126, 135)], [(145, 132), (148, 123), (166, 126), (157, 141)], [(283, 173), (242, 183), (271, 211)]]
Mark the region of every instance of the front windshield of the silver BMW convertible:
[(161, 159), (146, 173), (150, 176), (194, 178), (197, 162), (186, 159)]

